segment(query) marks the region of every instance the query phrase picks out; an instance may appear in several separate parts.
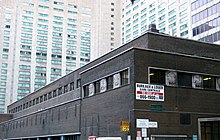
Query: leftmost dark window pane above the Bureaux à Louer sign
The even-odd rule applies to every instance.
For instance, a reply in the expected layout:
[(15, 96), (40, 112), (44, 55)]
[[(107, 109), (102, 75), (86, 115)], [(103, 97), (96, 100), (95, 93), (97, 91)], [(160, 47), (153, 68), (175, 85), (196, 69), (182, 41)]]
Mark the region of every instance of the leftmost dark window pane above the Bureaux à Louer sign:
[(150, 83), (151, 84), (165, 84), (165, 71), (159, 69), (150, 69)]

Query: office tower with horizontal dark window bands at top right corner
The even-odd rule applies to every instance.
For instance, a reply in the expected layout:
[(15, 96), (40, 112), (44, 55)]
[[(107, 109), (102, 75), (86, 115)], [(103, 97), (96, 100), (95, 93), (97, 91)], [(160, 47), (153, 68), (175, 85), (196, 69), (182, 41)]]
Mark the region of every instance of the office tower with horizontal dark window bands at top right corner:
[(220, 44), (220, 1), (192, 0), (192, 38)]

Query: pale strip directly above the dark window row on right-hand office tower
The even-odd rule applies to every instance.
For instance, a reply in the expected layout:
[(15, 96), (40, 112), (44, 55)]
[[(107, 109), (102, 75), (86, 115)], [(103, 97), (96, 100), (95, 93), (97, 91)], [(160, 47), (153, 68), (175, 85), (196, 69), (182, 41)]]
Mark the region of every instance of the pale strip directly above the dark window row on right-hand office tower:
[(213, 14), (220, 12), (220, 3), (215, 4), (195, 15), (192, 16), (192, 23), (196, 23), (197, 21), (203, 20)]

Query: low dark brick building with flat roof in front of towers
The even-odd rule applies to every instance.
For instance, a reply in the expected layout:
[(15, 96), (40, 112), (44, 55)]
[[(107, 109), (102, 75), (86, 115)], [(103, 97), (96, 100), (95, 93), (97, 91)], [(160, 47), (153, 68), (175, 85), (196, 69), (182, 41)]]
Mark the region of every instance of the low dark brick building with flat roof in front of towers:
[(0, 138), (219, 140), (219, 52), (148, 32), (11, 104)]

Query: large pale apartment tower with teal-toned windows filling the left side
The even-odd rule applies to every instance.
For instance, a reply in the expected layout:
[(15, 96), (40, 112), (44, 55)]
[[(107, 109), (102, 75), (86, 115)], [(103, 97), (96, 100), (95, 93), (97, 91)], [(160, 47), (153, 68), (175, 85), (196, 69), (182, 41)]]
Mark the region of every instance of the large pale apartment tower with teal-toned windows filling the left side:
[(118, 47), (120, 8), (120, 0), (0, 0), (0, 113)]

